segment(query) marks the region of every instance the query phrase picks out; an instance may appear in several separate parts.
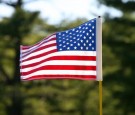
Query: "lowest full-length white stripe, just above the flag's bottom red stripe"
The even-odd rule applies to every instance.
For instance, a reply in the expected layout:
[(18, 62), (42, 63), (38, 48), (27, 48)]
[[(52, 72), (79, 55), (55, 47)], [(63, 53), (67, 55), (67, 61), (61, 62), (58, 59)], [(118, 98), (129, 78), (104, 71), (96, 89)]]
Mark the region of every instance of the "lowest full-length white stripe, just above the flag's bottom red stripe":
[(96, 71), (82, 71), (82, 70), (41, 70), (32, 74), (21, 76), (21, 79), (30, 78), (36, 75), (96, 75)]

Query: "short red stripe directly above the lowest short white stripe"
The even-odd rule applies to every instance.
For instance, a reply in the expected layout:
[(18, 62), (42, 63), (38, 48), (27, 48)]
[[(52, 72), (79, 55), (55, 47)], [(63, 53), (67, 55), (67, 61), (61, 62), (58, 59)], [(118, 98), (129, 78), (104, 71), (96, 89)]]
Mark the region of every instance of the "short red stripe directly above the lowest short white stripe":
[(23, 55), (22, 55), (21, 58), (25, 58), (26, 56), (28, 56), (28, 55), (30, 55), (30, 54), (32, 54), (32, 53), (35, 53), (35, 52), (37, 52), (37, 51), (40, 51), (40, 50), (43, 50), (43, 49), (46, 49), (46, 48), (49, 48), (49, 47), (52, 47), (52, 46), (56, 46), (56, 43), (49, 44), (49, 45), (46, 45), (46, 46), (42, 46), (42, 47), (40, 47), (40, 48), (38, 48), (38, 49), (35, 49), (35, 50), (33, 50), (33, 51), (28, 51), (27, 53), (22, 53)]

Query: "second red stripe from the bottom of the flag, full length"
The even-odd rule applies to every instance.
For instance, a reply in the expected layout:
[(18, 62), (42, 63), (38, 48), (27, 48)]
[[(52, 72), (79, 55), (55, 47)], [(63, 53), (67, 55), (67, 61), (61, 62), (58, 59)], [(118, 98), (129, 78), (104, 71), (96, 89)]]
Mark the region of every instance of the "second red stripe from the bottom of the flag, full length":
[(29, 75), (31, 73), (40, 71), (40, 70), (96, 70), (96, 66), (70, 66), (70, 65), (48, 65), (48, 66), (42, 66), (36, 69), (33, 69), (28, 72), (21, 72), (23, 76)]

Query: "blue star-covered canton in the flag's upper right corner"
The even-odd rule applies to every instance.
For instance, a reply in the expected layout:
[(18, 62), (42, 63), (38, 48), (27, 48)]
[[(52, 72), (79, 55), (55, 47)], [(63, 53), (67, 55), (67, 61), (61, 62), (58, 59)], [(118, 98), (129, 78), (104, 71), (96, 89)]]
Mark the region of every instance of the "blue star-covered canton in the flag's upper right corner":
[(96, 19), (56, 33), (58, 51), (96, 51)]

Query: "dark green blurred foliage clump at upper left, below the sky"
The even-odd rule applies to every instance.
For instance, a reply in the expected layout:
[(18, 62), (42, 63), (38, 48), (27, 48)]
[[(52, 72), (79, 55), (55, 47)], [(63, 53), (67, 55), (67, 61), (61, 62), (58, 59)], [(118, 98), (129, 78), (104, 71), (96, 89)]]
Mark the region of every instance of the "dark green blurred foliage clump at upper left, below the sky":
[(30, 13), (23, 9), (17, 9), (10, 19), (6, 18), (2, 21), (0, 35), (10, 35), (11, 38), (24, 37), (32, 29), (33, 21), (37, 15), (38, 12)]

